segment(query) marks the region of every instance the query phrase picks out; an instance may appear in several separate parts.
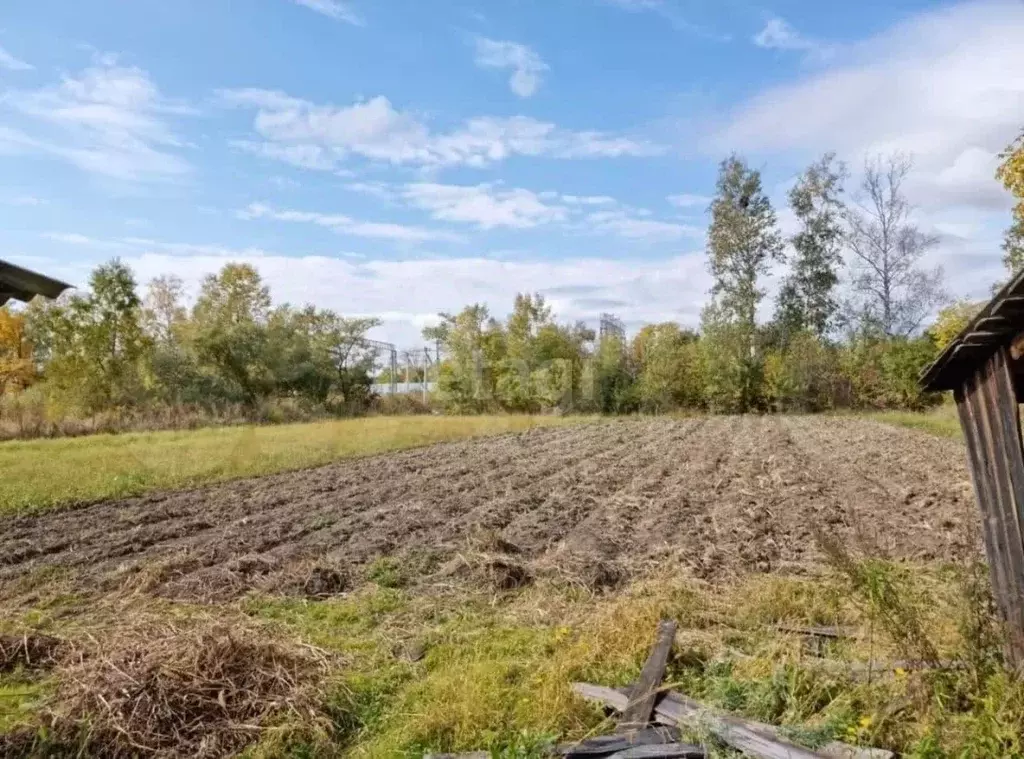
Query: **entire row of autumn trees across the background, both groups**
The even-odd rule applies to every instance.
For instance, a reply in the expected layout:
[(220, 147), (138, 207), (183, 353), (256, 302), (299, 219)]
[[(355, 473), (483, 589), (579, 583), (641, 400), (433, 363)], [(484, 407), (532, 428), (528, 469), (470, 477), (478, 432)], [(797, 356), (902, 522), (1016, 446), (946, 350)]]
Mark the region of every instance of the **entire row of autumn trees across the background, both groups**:
[[(424, 331), (442, 347), (426, 377), (437, 383), (433, 402), (463, 413), (927, 407), (936, 398), (920, 391), (920, 371), (979, 304), (949, 303), (941, 269), (924, 265), (937, 241), (913, 221), (910, 171), (899, 155), (868, 161), (848, 193), (846, 166), (822, 156), (788, 191), (794, 229), (783, 236), (760, 172), (731, 156), (709, 208), (713, 286), (696, 329), (665, 323), (598, 338), (558, 322), (540, 294), (516, 296), (505, 319), (472, 304)], [(1024, 135), (997, 177), (1017, 198), (1004, 245), (1014, 275), (1024, 267)], [(115, 259), (83, 291), (0, 308), (0, 422), (27, 409), (47, 419), (360, 413), (374, 400), (378, 356), (366, 336), (378, 324), (274, 305), (240, 263), (207, 277), (186, 304), (176, 277), (140, 290)]]

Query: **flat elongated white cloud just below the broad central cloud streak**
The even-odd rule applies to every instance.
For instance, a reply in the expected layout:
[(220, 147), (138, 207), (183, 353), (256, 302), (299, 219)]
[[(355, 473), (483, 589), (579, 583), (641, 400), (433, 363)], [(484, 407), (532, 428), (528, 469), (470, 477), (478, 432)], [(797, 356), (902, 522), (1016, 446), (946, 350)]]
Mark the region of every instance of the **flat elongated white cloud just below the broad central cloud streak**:
[(499, 226), (527, 228), (563, 221), (564, 206), (551, 205), (528, 189), (504, 189), (493, 184), (459, 185), (416, 182), (407, 184), (402, 197), (435, 219), (473, 223), (481, 229)]

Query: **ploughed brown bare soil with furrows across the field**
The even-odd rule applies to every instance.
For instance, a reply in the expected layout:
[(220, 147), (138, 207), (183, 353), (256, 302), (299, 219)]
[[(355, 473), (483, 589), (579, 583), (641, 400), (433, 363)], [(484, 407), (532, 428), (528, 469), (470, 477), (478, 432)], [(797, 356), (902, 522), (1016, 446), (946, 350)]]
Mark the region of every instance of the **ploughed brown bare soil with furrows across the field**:
[(37, 580), (224, 599), (547, 574), (614, 587), (821, 567), (820, 535), (895, 559), (980, 550), (963, 446), (856, 418), (620, 420), (0, 518), (0, 599)]

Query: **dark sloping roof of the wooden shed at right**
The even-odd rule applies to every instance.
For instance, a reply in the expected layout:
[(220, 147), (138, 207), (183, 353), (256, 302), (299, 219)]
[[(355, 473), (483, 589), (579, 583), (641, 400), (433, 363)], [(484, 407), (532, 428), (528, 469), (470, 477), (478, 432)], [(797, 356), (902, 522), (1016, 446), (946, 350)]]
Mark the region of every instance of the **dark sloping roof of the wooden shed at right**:
[[(989, 356), (1024, 332), (1024, 271), (995, 294), (946, 346), (939, 357), (921, 373), (926, 390), (952, 390), (970, 377)], [(1018, 381), (1018, 394), (1024, 390)]]

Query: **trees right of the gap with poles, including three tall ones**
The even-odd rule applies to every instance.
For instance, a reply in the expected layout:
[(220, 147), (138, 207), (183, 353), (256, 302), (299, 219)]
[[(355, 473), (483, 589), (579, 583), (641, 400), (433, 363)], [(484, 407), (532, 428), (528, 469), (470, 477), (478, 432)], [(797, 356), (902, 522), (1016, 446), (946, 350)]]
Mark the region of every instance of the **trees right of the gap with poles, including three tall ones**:
[[(1024, 161), (1013, 176), (1024, 197), (1021, 167)], [(666, 323), (629, 341), (607, 335), (595, 342), (585, 325), (556, 323), (541, 295), (517, 296), (505, 321), (470, 305), (440, 314), (440, 325), (424, 332), (449, 356), (438, 396), (460, 412), (741, 413), (937, 403), (921, 391), (918, 376), (979, 304), (950, 303), (942, 269), (924, 264), (938, 241), (913, 221), (905, 195), (910, 171), (905, 156), (869, 160), (848, 197), (850, 173), (826, 154), (790, 189), (796, 230), (784, 238), (760, 172), (731, 156), (719, 167), (709, 208), (713, 286), (698, 330)], [(1018, 214), (1024, 218), (1020, 206)], [(1012, 272), (1020, 258), (1011, 260), (1016, 235), (1007, 242)], [(766, 282), (778, 267), (784, 273), (771, 317), (760, 320)]]

